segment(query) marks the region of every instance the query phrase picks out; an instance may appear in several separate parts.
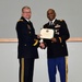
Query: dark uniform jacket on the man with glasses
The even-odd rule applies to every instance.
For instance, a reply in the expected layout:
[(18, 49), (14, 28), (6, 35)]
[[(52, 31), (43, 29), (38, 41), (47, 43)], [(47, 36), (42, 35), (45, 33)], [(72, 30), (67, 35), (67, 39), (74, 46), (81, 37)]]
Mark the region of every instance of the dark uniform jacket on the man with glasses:
[(37, 47), (39, 42), (32, 22), (21, 17), (16, 23), (16, 33), (19, 38), (17, 58), (38, 58)]

